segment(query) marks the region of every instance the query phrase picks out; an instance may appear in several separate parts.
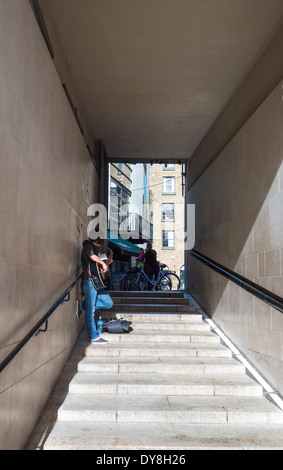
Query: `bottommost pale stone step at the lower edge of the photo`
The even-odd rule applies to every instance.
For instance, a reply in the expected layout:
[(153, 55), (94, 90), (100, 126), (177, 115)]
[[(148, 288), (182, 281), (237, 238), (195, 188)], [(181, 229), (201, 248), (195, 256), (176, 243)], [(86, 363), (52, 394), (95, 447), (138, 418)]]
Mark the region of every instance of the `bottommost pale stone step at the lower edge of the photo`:
[(283, 428), (259, 424), (58, 422), (45, 450), (279, 450)]

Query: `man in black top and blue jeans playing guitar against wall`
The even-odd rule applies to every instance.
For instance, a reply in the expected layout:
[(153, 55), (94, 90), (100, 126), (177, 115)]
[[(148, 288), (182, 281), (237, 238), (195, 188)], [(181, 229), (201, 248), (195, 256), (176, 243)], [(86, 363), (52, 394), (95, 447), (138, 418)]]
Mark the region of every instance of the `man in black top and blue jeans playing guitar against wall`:
[(107, 262), (99, 257), (101, 239), (89, 238), (83, 243), (81, 261), (83, 269), (82, 291), (84, 293), (85, 322), (92, 344), (106, 344), (108, 341), (101, 338), (96, 322), (100, 309), (109, 309), (113, 305), (110, 295), (105, 290), (104, 276), (108, 272), (108, 265), (112, 263), (112, 256)]

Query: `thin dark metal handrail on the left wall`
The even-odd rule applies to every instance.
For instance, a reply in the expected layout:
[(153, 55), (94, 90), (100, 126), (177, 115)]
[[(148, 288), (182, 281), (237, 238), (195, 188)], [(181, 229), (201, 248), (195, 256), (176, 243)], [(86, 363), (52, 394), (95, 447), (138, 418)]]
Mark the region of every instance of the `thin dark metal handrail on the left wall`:
[[(28, 341), (40, 331), (47, 331), (48, 319), (54, 313), (56, 308), (70, 298), (70, 292), (75, 287), (77, 282), (82, 277), (82, 273), (76, 277), (74, 282), (65, 290), (65, 292), (59, 297), (59, 299), (52, 305), (52, 307), (45, 313), (45, 315), (34, 325), (34, 327), (26, 334), (26, 336), (17, 344), (17, 346), (8, 354), (8, 356), (0, 363), (0, 373), (7, 367), (7, 365), (14, 359), (14, 357), (23, 349), (23, 347), (28, 343)], [(45, 329), (41, 330), (40, 327), (43, 324), (46, 324)]]

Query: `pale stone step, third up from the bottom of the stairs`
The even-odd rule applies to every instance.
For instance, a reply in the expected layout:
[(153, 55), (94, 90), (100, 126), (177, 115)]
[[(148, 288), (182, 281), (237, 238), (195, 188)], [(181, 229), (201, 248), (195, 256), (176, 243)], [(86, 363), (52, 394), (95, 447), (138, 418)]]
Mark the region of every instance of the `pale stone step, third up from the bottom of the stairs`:
[(81, 395), (262, 396), (262, 387), (243, 374), (77, 373), (69, 393)]

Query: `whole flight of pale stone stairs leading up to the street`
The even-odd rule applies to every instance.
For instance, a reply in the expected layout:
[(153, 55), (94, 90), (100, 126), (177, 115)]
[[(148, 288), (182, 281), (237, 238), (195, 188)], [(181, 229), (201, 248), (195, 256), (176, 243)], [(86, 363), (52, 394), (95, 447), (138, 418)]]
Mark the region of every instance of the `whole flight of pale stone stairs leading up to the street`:
[(45, 450), (283, 449), (283, 412), (183, 293), (111, 296), (133, 331), (83, 335)]

